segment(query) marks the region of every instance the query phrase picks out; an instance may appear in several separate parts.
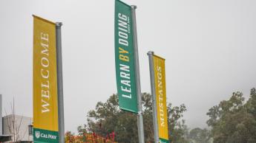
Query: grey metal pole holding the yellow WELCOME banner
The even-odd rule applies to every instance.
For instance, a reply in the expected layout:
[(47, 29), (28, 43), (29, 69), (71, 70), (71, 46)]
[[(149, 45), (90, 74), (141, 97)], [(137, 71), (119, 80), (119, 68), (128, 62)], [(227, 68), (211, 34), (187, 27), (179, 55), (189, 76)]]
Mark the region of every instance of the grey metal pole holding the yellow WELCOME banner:
[(58, 117), (59, 117), (59, 143), (65, 142), (64, 130), (64, 103), (62, 78), (62, 23), (56, 22), (56, 55), (57, 55), (57, 85), (58, 85)]

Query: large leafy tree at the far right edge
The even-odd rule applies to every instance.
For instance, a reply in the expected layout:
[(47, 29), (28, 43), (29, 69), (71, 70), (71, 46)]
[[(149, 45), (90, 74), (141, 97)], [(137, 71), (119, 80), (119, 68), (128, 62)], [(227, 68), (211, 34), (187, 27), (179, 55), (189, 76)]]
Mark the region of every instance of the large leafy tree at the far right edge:
[(252, 88), (249, 100), (234, 92), (229, 100), (209, 109), (207, 124), (212, 128), (214, 143), (256, 142), (256, 94)]

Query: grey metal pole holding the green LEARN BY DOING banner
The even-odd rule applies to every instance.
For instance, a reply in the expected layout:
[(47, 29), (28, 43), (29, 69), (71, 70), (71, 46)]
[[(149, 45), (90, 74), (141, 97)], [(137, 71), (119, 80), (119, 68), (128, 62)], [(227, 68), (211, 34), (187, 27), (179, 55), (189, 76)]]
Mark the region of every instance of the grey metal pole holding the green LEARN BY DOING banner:
[(137, 41), (137, 25), (136, 25), (136, 5), (131, 5), (131, 17), (133, 22), (133, 34), (134, 34), (134, 60), (136, 68), (136, 84), (137, 84), (137, 105), (138, 105), (138, 115), (137, 115), (137, 125), (138, 125), (138, 135), (139, 142), (144, 143), (144, 127), (143, 127), (143, 116), (142, 116), (142, 100), (141, 100), (141, 88), (140, 88), (140, 65), (139, 65), (139, 52), (138, 52), (138, 41)]

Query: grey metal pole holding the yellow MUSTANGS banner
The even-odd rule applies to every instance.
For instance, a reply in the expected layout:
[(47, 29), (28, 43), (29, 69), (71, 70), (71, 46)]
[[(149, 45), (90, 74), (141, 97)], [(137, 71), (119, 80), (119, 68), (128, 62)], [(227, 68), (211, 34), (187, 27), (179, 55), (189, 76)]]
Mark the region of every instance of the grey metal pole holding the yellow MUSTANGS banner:
[(150, 80), (151, 80), (151, 94), (152, 94), (152, 103), (153, 103), (153, 126), (154, 126), (154, 142), (159, 142), (158, 135), (158, 125), (157, 125), (157, 101), (156, 101), (156, 90), (154, 83), (154, 61), (153, 61), (153, 51), (148, 52), (149, 60), (149, 71), (150, 71)]

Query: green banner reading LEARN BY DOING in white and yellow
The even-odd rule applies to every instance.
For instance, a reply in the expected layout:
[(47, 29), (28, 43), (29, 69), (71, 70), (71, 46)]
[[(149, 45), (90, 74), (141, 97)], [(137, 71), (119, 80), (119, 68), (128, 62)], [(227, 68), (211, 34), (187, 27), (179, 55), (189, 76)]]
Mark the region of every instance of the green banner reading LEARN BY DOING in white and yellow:
[(119, 108), (138, 112), (131, 6), (115, 2), (116, 85)]

